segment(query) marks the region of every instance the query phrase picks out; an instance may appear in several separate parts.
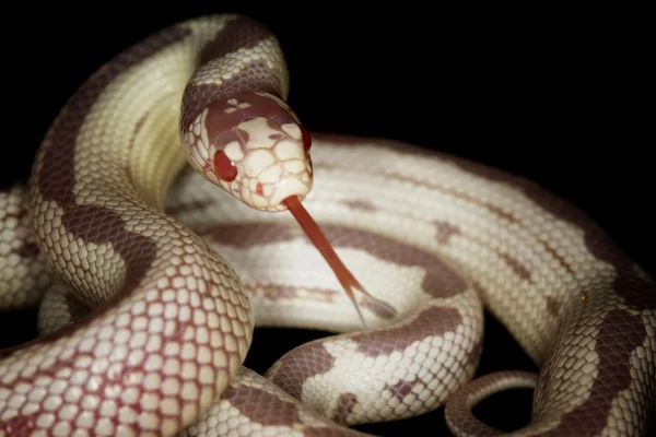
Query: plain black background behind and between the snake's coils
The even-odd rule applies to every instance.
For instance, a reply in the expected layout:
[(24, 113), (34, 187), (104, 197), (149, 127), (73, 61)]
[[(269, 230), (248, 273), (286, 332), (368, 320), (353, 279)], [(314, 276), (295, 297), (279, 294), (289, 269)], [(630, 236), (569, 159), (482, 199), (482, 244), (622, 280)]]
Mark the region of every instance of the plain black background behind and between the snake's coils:
[[(180, 20), (242, 12), (279, 37), (291, 74), (289, 102), (309, 130), (403, 140), (524, 175), (577, 204), (656, 273), (654, 140), (644, 134), (653, 126), (644, 75), (653, 71), (641, 47), (640, 11), (471, 7), (455, 13), (403, 4), (356, 12), (353, 4), (52, 11), (19, 4), (2, 26), (0, 184), (27, 177), (66, 99), (118, 51)], [(494, 318), (487, 323), (479, 374), (536, 369)], [(246, 364), (263, 373), (289, 349), (324, 334), (256, 330)], [(34, 311), (0, 314), (0, 347), (32, 335)], [(476, 412), (509, 430), (528, 420), (530, 397), (499, 394)], [(443, 414), (360, 429), (449, 435)]]

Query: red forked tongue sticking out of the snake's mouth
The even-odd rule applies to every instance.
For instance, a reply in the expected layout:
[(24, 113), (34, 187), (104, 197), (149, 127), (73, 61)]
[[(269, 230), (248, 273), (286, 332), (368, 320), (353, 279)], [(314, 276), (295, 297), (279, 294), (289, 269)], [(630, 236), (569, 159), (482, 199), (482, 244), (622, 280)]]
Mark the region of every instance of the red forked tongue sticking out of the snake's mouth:
[(305, 232), (305, 235), (307, 235), (307, 237), (311, 239), (311, 241), (319, 250), (321, 256), (324, 256), (324, 258), (326, 259), (326, 261), (332, 269), (332, 272), (337, 276), (337, 280), (341, 284), (342, 288), (344, 288), (344, 292), (347, 292), (347, 295), (353, 303), (353, 306), (355, 306), (355, 310), (358, 311), (360, 321), (362, 322), (362, 324), (364, 327), (366, 327), (364, 317), (362, 316), (362, 312), (360, 311), (360, 307), (358, 306), (358, 303), (355, 302), (355, 294), (353, 293), (353, 290), (358, 290), (360, 293), (364, 294), (365, 296), (368, 296), (372, 298), (373, 298), (373, 296), (371, 294), (368, 294), (368, 292), (366, 290), (364, 290), (364, 287), (362, 285), (360, 285), (360, 282), (358, 282), (358, 280), (353, 276), (353, 273), (351, 273), (351, 271), (344, 265), (344, 263), (341, 261), (341, 259), (335, 252), (335, 249), (332, 248), (332, 246), (330, 245), (330, 243), (328, 241), (328, 239), (326, 238), (326, 236), (319, 228), (319, 225), (317, 225), (317, 223), (314, 221), (312, 215), (309, 215), (307, 210), (305, 210), (303, 204), (301, 204), (301, 202), (298, 201), (298, 198), (295, 196), (290, 196), (289, 198), (286, 198), (283, 201), (283, 203), (291, 211), (292, 215), (294, 215), (294, 218), (296, 218), (296, 222), (298, 222), (298, 224)]

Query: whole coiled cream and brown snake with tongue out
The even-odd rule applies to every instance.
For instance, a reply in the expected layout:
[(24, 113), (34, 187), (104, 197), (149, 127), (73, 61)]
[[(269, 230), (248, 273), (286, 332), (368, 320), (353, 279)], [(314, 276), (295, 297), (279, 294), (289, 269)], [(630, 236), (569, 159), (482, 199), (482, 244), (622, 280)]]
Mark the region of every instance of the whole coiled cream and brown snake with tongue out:
[[(309, 132), (288, 95), (241, 14), (75, 91), (0, 192), (1, 307), (39, 308), (0, 351), (1, 436), (356, 436), (440, 408), (491, 436), (472, 409), (513, 388), (534, 400), (508, 435), (654, 435), (656, 284), (590, 217), (491, 166)], [(485, 310), (538, 374), (472, 379)], [(332, 334), (260, 375), (256, 326)]]

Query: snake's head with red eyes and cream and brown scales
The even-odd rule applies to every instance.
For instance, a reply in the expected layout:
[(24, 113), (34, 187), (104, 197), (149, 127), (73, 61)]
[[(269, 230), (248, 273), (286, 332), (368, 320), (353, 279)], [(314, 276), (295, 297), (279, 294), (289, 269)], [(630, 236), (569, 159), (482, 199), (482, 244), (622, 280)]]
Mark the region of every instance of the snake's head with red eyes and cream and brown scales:
[(284, 211), (313, 186), (312, 139), (293, 110), (269, 93), (244, 92), (209, 104), (183, 135), (190, 165), (259, 211)]

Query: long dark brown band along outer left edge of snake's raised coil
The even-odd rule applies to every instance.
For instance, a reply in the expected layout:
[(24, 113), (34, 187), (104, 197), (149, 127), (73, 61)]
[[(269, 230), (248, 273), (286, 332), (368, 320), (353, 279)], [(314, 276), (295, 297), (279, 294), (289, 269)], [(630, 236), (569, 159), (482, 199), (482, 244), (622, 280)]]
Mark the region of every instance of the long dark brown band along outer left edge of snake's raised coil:
[[(188, 34), (189, 29), (183, 26), (166, 28), (105, 64), (71, 97), (66, 109), (52, 123), (42, 146), (43, 156), (39, 160), (40, 169), (37, 172), (36, 182), (44, 201), (55, 201), (65, 210), (62, 224), (75, 237), (89, 238), (87, 240), (94, 243), (114, 244), (115, 249), (128, 262), (124, 291), (129, 291), (139, 283), (154, 258), (155, 245), (147, 237), (126, 232), (125, 222), (117, 213), (101, 206), (75, 203), (74, 147), (78, 134), (91, 107), (114, 79)], [(104, 232), (92, 238), (94, 228)], [(132, 243), (137, 245), (131, 246)]]

